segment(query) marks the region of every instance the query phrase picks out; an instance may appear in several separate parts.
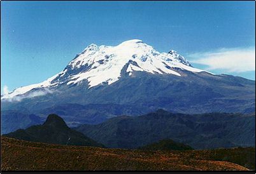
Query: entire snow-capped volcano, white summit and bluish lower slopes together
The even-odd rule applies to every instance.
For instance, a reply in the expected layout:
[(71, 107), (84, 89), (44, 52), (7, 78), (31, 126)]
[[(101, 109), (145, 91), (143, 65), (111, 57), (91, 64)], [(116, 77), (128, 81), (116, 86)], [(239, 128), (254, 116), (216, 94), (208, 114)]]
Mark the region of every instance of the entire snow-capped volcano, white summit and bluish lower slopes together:
[(255, 112), (255, 81), (196, 69), (176, 51), (160, 53), (138, 39), (90, 44), (55, 76), (1, 96), (1, 131), (39, 124), (52, 113), (77, 126), (157, 109)]

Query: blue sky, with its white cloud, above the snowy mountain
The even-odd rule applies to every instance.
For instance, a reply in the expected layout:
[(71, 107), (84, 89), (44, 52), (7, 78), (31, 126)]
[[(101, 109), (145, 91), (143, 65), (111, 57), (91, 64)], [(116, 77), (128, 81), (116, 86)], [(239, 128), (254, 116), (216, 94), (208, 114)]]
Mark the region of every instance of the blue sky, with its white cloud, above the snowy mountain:
[(1, 93), (57, 74), (91, 43), (129, 39), (255, 80), (254, 1), (1, 1)]

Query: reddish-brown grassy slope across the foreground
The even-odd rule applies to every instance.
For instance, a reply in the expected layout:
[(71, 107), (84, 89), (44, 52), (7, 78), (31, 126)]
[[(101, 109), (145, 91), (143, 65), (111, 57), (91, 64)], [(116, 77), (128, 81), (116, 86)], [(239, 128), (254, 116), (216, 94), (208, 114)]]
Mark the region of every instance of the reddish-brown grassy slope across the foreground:
[(1, 170), (248, 170), (183, 153), (52, 145), (1, 137)]

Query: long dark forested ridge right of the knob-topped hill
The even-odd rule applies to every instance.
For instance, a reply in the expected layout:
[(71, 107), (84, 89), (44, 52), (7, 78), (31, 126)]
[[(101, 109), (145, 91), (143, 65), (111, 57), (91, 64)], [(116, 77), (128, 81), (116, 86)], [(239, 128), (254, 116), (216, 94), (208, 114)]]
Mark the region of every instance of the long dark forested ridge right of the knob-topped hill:
[(255, 147), (255, 113), (188, 115), (158, 110), (138, 117), (114, 117), (75, 129), (111, 148), (136, 149), (163, 139), (194, 149)]

